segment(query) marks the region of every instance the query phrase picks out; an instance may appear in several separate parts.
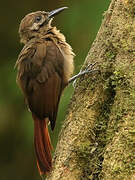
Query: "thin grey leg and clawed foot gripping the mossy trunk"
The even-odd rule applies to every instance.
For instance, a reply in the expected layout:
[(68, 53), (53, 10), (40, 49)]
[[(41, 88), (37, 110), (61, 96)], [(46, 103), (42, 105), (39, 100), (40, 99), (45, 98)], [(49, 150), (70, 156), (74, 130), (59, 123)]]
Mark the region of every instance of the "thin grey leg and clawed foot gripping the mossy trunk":
[(76, 74), (75, 76), (71, 77), (69, 79), (68, 83), (72, 83), (73, 82), (73, 85), (74, 85), (77, 78), (79, 78), (81, 76), (84, 76), (85, 74), (97, 71), (96, 69), (93, 69), (93, 67), (95, 66), (96, 63), (97, 62), (95, 62), (93, 64), (89, 64), (84, 71), (80, 71), (78, 74)]

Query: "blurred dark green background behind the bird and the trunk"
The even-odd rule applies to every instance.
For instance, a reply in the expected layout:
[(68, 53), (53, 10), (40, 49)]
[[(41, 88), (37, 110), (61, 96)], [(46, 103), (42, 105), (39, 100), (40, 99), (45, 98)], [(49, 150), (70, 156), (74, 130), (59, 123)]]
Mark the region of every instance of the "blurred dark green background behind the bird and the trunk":
[[(67, 38), (76, 54), (75, 73), (81, 68), (100, 27), (110, 0), (5, 0), (0, 6), (0, 180), (40, 179), (33, 148), (33, 121), (16, 85), (14, 64), (23, 45), (19, 43), (20, 20), (29, 12), (69, 9), (55, 17), (53, 25)], [(62, 96), (57, 125), (51, 133), (55, 149), (73, 88)]]

